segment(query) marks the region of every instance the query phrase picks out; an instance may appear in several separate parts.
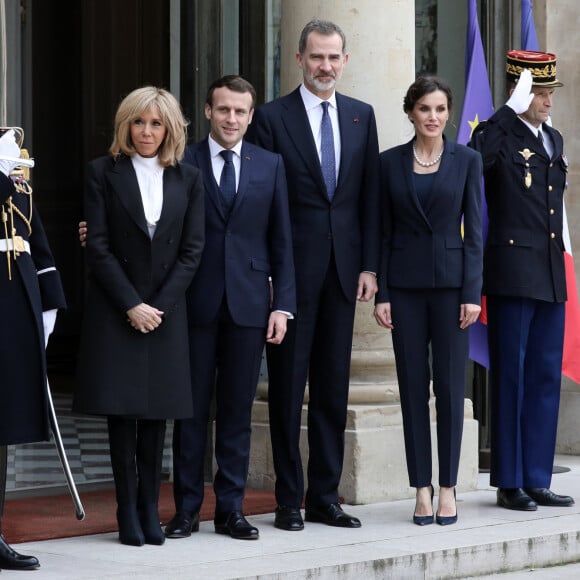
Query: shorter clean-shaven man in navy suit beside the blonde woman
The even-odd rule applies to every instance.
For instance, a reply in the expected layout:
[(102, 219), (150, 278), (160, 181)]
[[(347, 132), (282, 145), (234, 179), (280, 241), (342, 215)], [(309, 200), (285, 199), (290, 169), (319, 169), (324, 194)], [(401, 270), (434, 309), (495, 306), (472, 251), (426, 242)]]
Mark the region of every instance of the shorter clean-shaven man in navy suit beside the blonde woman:
[(255, 99), (253, 86), (241, 77), (215, 81), (205, 104), (209, 137), (189, 146), (184, 159), (204, 176), (206, 242), (187, 294), (194, 416), (175, 422), (177, 513), (165, 528), (169, 538), (187, 537), (199, 527), (214, 391), (215, 531), (258, 538), (242, 513), (252, 403), (264, 343), (282, 342), (296, 298), (282, 158), (243, 140)]

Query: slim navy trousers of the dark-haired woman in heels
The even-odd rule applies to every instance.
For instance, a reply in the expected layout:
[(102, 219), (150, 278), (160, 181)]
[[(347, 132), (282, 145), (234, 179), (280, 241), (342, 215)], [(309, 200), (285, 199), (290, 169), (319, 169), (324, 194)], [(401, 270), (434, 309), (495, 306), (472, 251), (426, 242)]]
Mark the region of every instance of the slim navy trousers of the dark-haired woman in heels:
[(437, 410), (439, 485), (457, 484), (469, 334), (459, 328), (460, 291), (391, 288), (393, 348), (411, 487), (432, 481), (429, 346)]

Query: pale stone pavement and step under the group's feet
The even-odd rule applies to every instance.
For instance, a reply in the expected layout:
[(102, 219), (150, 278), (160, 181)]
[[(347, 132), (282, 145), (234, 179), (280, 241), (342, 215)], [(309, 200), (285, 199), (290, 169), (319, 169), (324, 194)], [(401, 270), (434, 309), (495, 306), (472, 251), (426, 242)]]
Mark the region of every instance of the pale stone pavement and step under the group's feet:
[(3, 570), (0, 578), (399, 580), (489, 578), (510, 571), (501, 578), (578, 578), (577, 565), (539, 570), (580, 562), (580, 457), (558, 456), (556, 464), (570, 471), (555, 474), (552, 489), (576, 496), (574, 507), (499, 508), (489, 476), (481, 474), (477, 491), (459, 494), (453, 526), (413, 525), (413, 500), (346, 506), (363, 522), (356, 530), (307, 523), (302, 532), (284, 532), (265, 514), (249, 518), (260, 529), (260, 539), (252, 542), (215, 534), (213, 524), (204, 522), (191, 538), (164, 546), (123, 546), (116, 534), (19, 544), (20, 552), (40, 559), (41, 568)]

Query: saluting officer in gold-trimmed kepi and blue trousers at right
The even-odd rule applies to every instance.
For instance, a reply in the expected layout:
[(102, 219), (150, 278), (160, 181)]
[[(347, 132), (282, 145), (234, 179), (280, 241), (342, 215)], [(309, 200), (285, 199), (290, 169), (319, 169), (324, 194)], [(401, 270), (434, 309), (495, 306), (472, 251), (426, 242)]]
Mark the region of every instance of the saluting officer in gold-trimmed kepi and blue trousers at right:
[(484, 253), (491, 484), (499, 506), (570, 506), (550, 490), (564, 344), (563, 195), (568, 163), (550, 112), (556, 56), (507, 53), (509, 99), (476, 128), (489, 230)]

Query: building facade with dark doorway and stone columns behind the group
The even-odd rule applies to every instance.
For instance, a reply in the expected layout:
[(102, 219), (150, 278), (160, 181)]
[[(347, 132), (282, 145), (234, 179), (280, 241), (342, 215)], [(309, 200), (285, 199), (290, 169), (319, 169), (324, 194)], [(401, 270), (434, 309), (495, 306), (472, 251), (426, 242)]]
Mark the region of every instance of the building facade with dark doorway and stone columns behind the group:
[[(567, 209), (578, 273), (580, 144), (574, 127), (580, 118), (580, 102), (574, 98), (574, 88), (580, 70), (568, 48), (576, 46), (580, 36), (575, 27), (576, 2), (536, 0), (533, 4), (540, 46), (557, 53), (559, 76), (565, 83), (558, 91), (554, 125), (563, 130), (570, 161)], [(520, 47), (520, 0), (479, 0), (478, 8), (497, 106), (505, 100), (505, 52)], [(76, 363), (85, 290), (83, 255), (77, 242), (77, 222), (83, 216), (84, 167), (107, 150), (112, 117), (121, 98), (145, 84), (169, 88), (191, 120), (190, 137), (201, 138), (207, 132), (205, 91), (218, 76), (245, 76), (256, 86), (260, 102), (286, 93), (300, 82), (295, 65), (298, 35), (313, 17), (333, 20), (344, 28), (351, 57), (339, 90), (374, 105), (381, 149), (412, 135), (402, 113), (402, 98), (418, 73), (436, 73), (450, 82), (458, 122), (464, 90), (467, 1), (0, 0), (0, 122), (24, 128), (25, 145), (36, 159), (35, 199), (69, 302), (49, 347), (53, 389), (70, 392)], [(455, 131), (451, 125), (451, 138)], [(366, 428), (365, 420), (378, 420), (386, 429), (379, 437), (385, 437), (393, 426), (399, 433), (400, 422), (393, 418), (398, 409), (394, 377), (390, 337), (371, 320), (368, 305), (363, 306), (357, 314), (351, 404), (364, 413), (353, 415), (360, 423), (354, 424), (354, 420), (351, 425), (353, 448), (374, 445), (359, 437)], [(573, 428), (580, 407), (577, 391), (577, 385), (564, 380), (559, 436), (563, 452), (580, 450), (580, 433)], [(260, 392), (265, 398), (265, 389)], [(376, 410), (375, 415), (371, 409)], [(469, 400), (466, 409), (472, 437), (467, 437), (465, 453), (472, 459), (467, 461), (463, 477), (469, 487), (477, 471), (479, 441), (485, 441), (487, 419), (485, 405), (476, 406), (475, 418)], [(256, 413), (254, 447), (266, 448), (267, 429), (260, 429), (259, 405)], [(475, 419), (479, 419), (479, 427)], [(390, 462), (404, 462), (402, 439), (400, 442), (399, 449), (395, 438)], [(374, 461), (372, 457), (368, 460)], [(267, 459), (256, 461), (252, 483), (268, 487)], [(350, 479), (362, 479), (354, 463), (353, 458), (352, 469), (345, 472)], [(343, 490), (353, 501), (373, 501), (404, 495), (404, 482), (393, 495), (385, 493), (382, 489), (359, 490), (356, 484), (346, 493)]]

